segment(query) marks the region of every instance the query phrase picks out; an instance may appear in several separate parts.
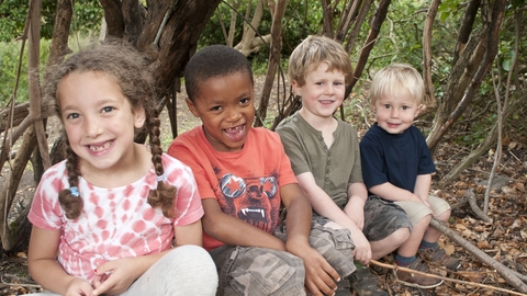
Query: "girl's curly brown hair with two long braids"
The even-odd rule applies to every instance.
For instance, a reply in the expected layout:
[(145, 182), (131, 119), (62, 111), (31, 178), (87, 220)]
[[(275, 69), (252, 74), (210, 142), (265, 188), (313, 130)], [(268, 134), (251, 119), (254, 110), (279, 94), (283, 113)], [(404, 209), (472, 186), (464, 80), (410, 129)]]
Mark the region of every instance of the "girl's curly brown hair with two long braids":
[[(156, 87), (152, 72), (146, 67), (146, 59), (134, 47), (122, 41), (108, 41), (93, 43), (74, 54), (61, 64), (51, 66), (46, 69), (44, 96), (56, 102), (56, 112), (60, 121), (60, 113), (57, 87), (58, 83), (71, 72), (102, 72), (114, 78), (121, 90), (128, 99), (133, 110), (143, 107), (145, 110), (145, 127), (148, 130), (148, 144), (152, 152), (152, 162), (156, 174), (162, 177), (165, 171), (161, 163), (162, 149), (159, 140), (159, 118), (155, 107)], [(65, 132), (63, 130), (65, 134)], [(71, 187), (77, 187), (80, 171), (78, 168), (78, 156), (70, 147), (66, 138), (66, 169), (68, 182)], [(162, 178), (160, 178), (162, 179)], [(82, 212), (82, 198), (78, 193), (71, 194), (70, 189), (59, 192), (60, 206), (66, 212), (66, 217), (76, 219)], [(158, 181), (157, 189), (150, 190), (147, 202), (152, 207), (160, 207), (166, 217), (173, 217), (173, 200), (177, 189)]]

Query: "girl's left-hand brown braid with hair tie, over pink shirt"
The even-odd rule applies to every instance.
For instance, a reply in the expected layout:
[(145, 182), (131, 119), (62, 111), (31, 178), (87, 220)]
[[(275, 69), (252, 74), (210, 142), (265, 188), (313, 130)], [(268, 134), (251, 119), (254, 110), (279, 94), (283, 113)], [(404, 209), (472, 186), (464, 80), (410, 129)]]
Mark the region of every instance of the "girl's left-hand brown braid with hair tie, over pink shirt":
[(66, 212), (66, 217), (68, 219), (76, 219), (80, 216), (80, 213), (82, 212), (83, 207), (83, 202), (82, 197), (76, 196), (71, 194), (70, 189), (71, 187), (77, 187), (79, 183), (79, 170), (77, 167), (77, 155), (71, 149), (71, 146), (69, 146), (69, 140), (68, 137), (65, 136), (66, 138), (66, 153), (67, 153), (67, 159), (66, 159), (66, 169), (68, 171), (68, 183), (69, 183), (69, 189), (64, 189), (58, 193), (58, 202), (60, 203), (60, 206), (63, 207), (64, 212)]

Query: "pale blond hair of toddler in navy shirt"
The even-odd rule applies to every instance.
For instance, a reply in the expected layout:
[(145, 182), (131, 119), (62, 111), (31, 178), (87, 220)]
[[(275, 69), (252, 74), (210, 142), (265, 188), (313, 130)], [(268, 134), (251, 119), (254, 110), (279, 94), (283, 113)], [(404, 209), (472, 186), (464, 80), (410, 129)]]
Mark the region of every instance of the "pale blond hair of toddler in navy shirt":
[(370, 87), (370, 102), (375, 104), (377, 99), (383, 94), (400, 96), (410, 92), (417, 104), (423, 104), (425, 98), (425, 83), (421, 73), (407, 64), (392, 64), (379, 70)]

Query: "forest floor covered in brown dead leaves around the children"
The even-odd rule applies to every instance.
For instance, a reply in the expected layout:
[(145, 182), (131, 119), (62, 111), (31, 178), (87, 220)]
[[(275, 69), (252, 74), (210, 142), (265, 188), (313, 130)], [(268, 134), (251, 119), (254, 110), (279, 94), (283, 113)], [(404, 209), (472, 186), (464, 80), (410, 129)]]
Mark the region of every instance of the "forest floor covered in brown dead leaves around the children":
[[(256, 98), (259, 98), (262, 78), (257, 79)], [(200, 124), (188, 111), (182, 100), (178, 100), (178, 130), (187, 130)], [(272, 102), (272, 100), (271, 100)], [(277, 104), (276, 100), (274, 103)], [(347, 100), (346, 109), (351, 110), (351, 116), (357, 118), (351, 121), (360, 136), (371, 124), (371, 113), (367, 111), (367, 103), (361, 100)], [(525, 112), (525, 107), (523, 111)], [(369, 118), (365, 119), (365, 115)], [(269, 116), (269, 115), (268, 115)], [(272, 114), (271, 114), (272, 116)], [(524, 113), (523, 118), (527, 117)], [(56, 117), (53, 117), (56, 121)], [(51, 118), (51, 121), (54, 121)], [(164, 147), (167, 148), (171, 140), (170, 123), (167, 115), (161, 114), (162, 129), (165, 132)], [(426, 119), (419, 119), (417, 125), (430, 126)], [(367, 123), (368, 122), (368, 123)], [(58, 126), (48, 124), (48, 126)], [(525, 123), (524, 123), (525, 125)], [(462, 175), (452, 184), (444, 189), (438, 187), (438, 182), (456, 164), (471, 152), (475, 147), (467, 147), (456, 144), (456, 139), (464, 133), (461, 129), (450, 132), (439, 145), (434, 155), (437, 172), (433, 177), (431, 191), (434, 194), (445, 198), (451, 205), (452, 210), (449, 228), (459, 234), (473, 246), (478, 247), (489, 257), (501, 262), (505, 266), (517, 271), (520, 274), (527, 274), (527, 136), (525, 126), (507, 127), (504, 137), (502, 161), (498, 166), (493, 190), (490, 194), (489, 216), (492, 223), (484, 223), (473, 214), (470, 206), (460, 205), (466, 201), (467, 191), (473, 191), (478, 197), (484, 195), (486, 182), (493, 166), (493, 150), (489, 151), (479, 159), (473, 166), (464, 170)], [(58, 130), (49, 130), (49, 138), (58, 134)], [(52, 141), (51, 141), (52, 143)], [(8, 174), (8, 169), (3, 168), (0, 175), (0, 184)], [(18, 212), (30, 206), (35, 181), (31, 170), (24, 174), (18, 190), (18, 197), (14, 209), (11, 215), (15, 216)], [(479, 203), (482, 207), (482, 203)], [(467, 251), (463, 247), (455, 243), (448, 237), (442, 236), (440, 244), (456, 258), (460, 259), (462, 265), (458, 272), (447, 272), (440, 266), (433, 266), (433, 271), (444, 276), (445, 283), (433, 289), (417, 289), (404, 286), (396, 282), (391, 270), (384, 267), (374, 267), (378, 283), (390, 295), (513, 295), (507, 291), (516, 291), (491, 266), (482, 263), (474, 254)], [(384, 263), (392, 263), (391, 258), (380, 260)], [(34, 283), (27, 274), (26, 252), (2, 254), (0, 261), (0, 295), (23, 295), (40, 291), (40, 286)], [(458, 282), (455, 282), (455, 281)], [(473, 284), (470, 284), (473, 283)], [(497, 289), (496, 289), (497, 288)], [(504, 289), (504, 291), (498, 291)], [(515, 292), (517, 293), (517, 292)], [(518, 294), (516, 294), (518, 295)]]

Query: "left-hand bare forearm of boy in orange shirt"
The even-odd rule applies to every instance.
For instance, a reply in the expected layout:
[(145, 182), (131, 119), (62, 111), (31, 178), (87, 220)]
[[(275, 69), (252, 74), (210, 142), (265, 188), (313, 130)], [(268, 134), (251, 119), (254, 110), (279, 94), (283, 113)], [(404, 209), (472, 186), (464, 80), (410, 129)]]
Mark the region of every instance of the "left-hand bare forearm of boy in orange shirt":
[(202, 204), (205, 210), (203, 229), (214, 239), (232, 246), (285, 250), (285, 244), (279, 238), (223, 213), (215, 198), (204, 198)]

